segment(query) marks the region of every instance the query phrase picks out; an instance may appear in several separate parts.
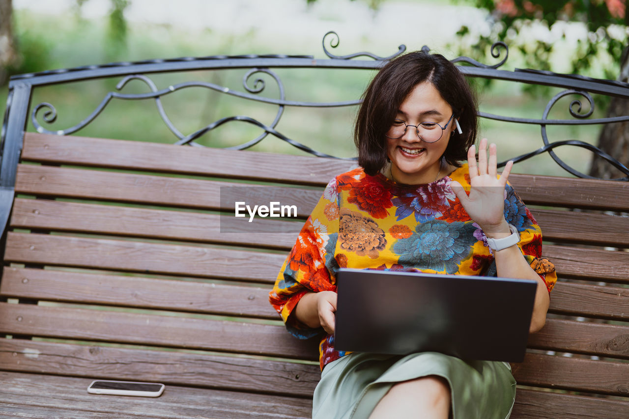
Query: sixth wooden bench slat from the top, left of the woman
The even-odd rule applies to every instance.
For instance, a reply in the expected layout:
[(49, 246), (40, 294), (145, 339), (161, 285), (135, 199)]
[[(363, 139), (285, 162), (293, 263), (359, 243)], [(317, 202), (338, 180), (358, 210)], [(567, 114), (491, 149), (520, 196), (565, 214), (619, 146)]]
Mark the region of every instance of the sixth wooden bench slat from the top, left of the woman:
[(0, 303), (0, 332), (318, 359), (318, 342), (296, 339), (284, 325), (194, 317)]

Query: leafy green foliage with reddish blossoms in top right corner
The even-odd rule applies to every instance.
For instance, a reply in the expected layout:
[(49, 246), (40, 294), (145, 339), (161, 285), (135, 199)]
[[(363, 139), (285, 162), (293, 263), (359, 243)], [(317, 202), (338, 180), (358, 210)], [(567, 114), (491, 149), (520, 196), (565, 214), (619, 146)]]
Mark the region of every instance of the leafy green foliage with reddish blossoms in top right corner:
[[(526, 67), (550, 70), (552, 57), (562, 54), (567, 40), (568, 22), (579, 22), (586, 29), (586, 36), (576, 40), (570, 53), (567, 72), (593, 75), (600, 70), (600, 77), (616, 79), (620, 72), (623, 48), (629, 41), (629, 16), (626, 2), (621, 0), (457, 0), (473, 4), (489, 12), (490, 33), (477, 33), (462, 26), (457, 33), (462, 42), (452, 47), (463, 55), (477, 60), (489, 57), (491, 45), (506, 42), (511, 50), (520, 52)], [(537, 28), (535, 28), (537, 26)], [(540, 27), (545, 29), (544, 38), (532, 35)], [(555, 69), (555, 71), (557, 71)]]

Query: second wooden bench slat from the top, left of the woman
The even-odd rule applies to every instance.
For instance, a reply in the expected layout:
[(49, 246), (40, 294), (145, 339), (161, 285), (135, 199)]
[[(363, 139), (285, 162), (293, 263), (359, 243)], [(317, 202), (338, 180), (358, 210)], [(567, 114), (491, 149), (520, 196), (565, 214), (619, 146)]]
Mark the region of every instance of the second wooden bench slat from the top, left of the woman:
[[(276, 201), (296, 206), (307, 217), (321, 198), (321, 189), (260, 186), (235, 182), (206, 181), (183, 177), (128, 174), (106, 170), (70, 169), (18, 165), (16, 193), (111, 200), (128, 203), (234, 211), (231, 201), (269, 205)], [(222, 196), (221, 196), (222, 194)], [(223, 204), (221, 204), (221, 198)]]

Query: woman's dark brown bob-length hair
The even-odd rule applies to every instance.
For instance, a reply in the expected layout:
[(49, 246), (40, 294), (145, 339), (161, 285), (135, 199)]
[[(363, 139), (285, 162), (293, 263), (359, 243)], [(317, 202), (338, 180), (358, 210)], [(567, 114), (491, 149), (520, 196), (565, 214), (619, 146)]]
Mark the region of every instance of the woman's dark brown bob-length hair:
[(455, 167), (460, 167), (461, 160), (467, 159), (467, 150), (476, 142), (477, 135), (476, 95), (462, 72), (443, 55), (416, 51), (384, 65), (363, 95), (354, 142), (358, 149), (358, 163), (367, 174), (373, 176), (386, 164), (384, 134), (406, 96), (422, 82), (435, 86), (454, 111), (454, 118), (459, 120), (463, 131), (462, 134), (454, 131), (443, 157)]

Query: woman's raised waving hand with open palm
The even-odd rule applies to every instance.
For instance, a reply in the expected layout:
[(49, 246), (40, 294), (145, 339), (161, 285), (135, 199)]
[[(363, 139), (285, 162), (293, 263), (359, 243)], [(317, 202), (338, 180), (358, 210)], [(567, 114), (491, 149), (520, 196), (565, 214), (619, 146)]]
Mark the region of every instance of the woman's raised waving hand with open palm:
[(487, 138), (483, 138), (479, 144), (478, 162), (474, 145), (467, 151), (471, 186), (469, 196), (459, 182), (453, 181), (450, 186), (465, 211), (476, 221), (485, 235), (495, 237), (509, 233), (509, 226), (504, 220), (504, 187), (513, 161), (509, 160), (498, 178), (496, 144), (489, 145), (489, 160), (486, 148)]

